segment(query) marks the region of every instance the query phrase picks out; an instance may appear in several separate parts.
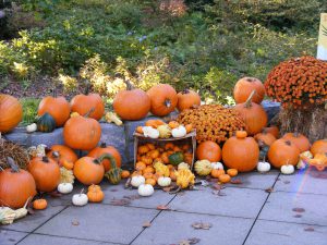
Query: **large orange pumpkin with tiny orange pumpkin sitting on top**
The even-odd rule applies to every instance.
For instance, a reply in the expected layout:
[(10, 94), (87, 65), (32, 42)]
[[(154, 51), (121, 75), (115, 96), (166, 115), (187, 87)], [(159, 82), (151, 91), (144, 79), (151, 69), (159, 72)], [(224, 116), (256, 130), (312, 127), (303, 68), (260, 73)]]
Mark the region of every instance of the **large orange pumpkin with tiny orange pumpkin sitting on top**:
[(246, 132), (237, 133), (222, 146), (222, 161), (229, 169), (249, 172), (256, 168), (259, 159), (259, 147), (253, 137), (246, 137)]

